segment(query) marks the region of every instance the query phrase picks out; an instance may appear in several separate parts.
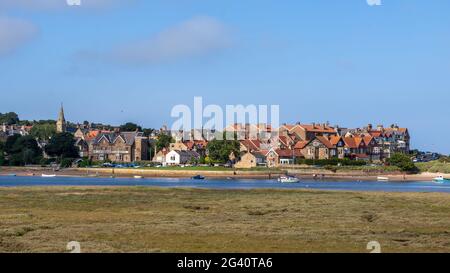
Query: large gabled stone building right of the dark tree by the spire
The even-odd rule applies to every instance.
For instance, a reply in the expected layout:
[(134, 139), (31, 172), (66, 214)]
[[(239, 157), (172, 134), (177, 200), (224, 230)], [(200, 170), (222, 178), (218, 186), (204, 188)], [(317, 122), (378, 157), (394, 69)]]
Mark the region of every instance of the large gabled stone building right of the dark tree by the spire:
[(148, 138), (141, 132), (100, 133), (89, 143), (89, 158), (112, 162), (148, 160)]

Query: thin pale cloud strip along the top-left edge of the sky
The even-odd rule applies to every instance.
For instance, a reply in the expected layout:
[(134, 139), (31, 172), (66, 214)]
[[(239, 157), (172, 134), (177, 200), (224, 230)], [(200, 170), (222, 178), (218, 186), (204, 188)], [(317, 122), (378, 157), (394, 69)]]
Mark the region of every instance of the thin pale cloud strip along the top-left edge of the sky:
[[(75, 8), (103, 8), (128, 4), (137, 0), (81, 0), (81, 6)], [(0, 9), (53, 10), (74, 8), (66, 0), (0, 0)]]

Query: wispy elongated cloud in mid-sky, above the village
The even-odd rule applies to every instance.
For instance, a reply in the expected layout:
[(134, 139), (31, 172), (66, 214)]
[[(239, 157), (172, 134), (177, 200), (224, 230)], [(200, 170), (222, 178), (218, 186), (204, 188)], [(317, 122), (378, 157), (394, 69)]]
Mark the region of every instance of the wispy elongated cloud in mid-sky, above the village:
[(148, 65), (204, 56), (231, 45), (230, 31), (223, 23), (211, 17), (195, 17), (153, 37), (116, 46), (109, 52), (84, 52), (84, 58)]

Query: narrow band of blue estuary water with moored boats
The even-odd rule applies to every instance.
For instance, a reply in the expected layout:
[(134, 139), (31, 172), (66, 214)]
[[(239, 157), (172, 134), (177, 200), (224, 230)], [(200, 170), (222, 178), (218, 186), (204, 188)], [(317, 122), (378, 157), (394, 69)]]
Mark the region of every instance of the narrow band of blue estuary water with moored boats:
[(379, 192), (445, 192), (450, 193), (450, 183), (379, 182), (379, 181), (332, 181), (302, 180), (297, 184), (282, 184), (274, 180), (257, 179), (205, 179), (188, 178), (101, 178), (101, 177), (37, 177), (0, 176), (0, 187), (30, 186), (148, 186), (184, 187), (204, 189), (317, 189), (341, 191)]

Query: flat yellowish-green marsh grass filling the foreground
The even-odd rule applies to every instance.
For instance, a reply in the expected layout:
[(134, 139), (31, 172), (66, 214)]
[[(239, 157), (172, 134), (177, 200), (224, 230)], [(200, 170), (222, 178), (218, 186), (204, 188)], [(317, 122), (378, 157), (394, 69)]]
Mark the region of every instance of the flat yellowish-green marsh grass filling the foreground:
[(0, 252), (450, 252), (450, 195), (1, 188)]

